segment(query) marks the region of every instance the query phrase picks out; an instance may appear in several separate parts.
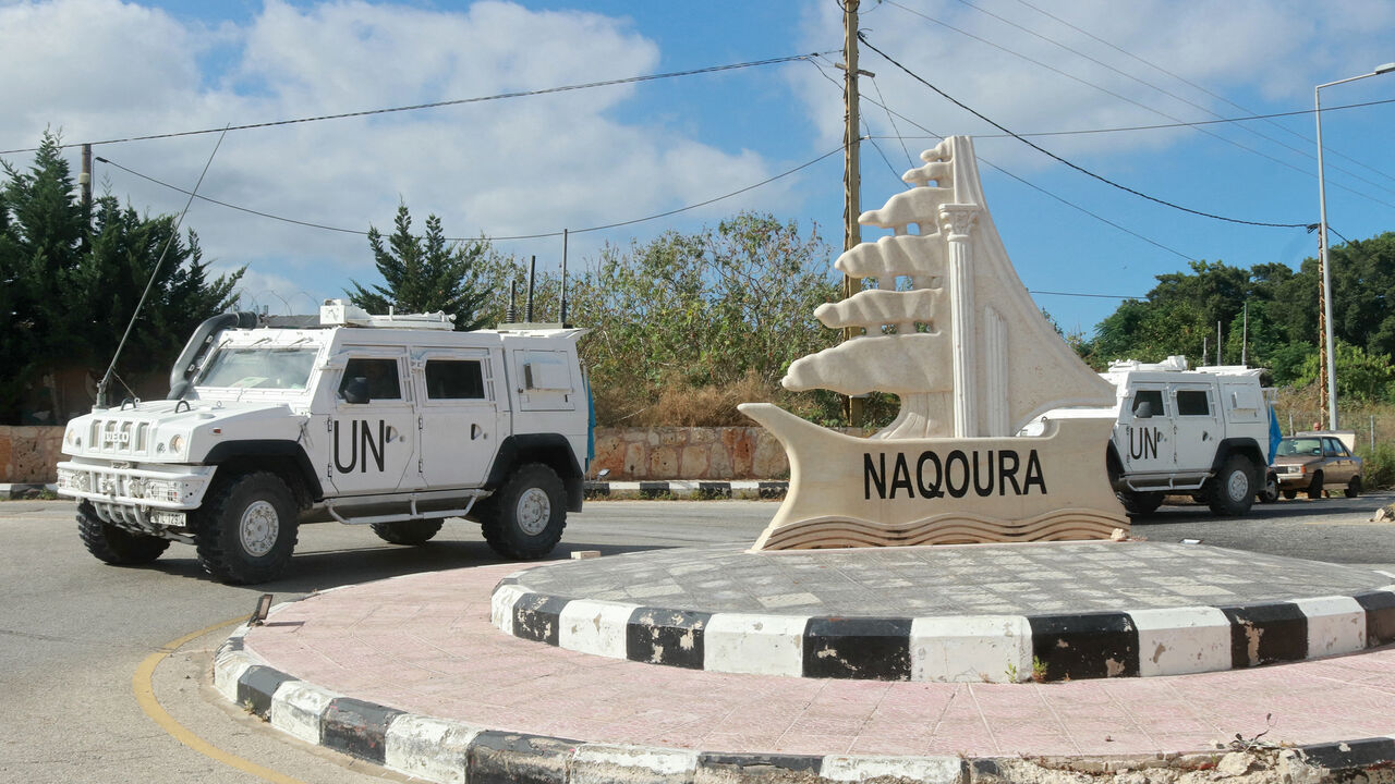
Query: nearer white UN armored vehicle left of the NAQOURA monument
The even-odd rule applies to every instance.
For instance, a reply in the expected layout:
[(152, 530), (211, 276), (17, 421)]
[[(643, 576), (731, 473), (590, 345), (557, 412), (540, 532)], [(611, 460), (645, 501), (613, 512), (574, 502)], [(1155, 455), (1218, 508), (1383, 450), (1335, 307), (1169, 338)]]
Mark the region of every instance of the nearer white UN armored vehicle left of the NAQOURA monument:
[(109, 564), (195, 545), (227, 583), (279, 575), (303, 522), (421, 544), (446, 518), (541, 558), (582, 508), (590, 406), (582, 329), (456, 332), (444, 314), (225, 314), (170, 374), (170, 399), (68, 423), (59, 494)]

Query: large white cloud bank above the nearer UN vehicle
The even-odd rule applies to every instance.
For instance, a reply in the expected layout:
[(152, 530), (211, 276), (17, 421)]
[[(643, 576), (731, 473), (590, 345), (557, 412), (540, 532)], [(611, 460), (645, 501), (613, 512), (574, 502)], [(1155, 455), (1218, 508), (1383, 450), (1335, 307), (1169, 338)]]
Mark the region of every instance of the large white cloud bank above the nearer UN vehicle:
[[(7, 95), (0, 148), (29, 146), (50, 126), (68, 142), (216, 128), (629, 77), (660, 61), (657, 45), (628, 20), (495, 0), (460, 11), (268, 0), (241, 27), (211, 28), (117, 0), (21, 3), (0, 6), (0, 50), (22, 68), (7, 77), (20, 92)], [(663, 212), (770, 174), (748, 151), (714, 148), (657, 120), (618, 120), (635, 93), (618, 85), (237, 131), (199, 194), (353, 230), (391, 230), (405, 201), (418, 223), (434, 212), (452, 236), (508, 236)], [(96, 155), (190, 188), (215, 140), (107, 145)], [(184, 205), (183, 194), (120, 170), (98, 165), (98, 177), (141, 209)], [(340, 296), (350, 278), (377, 279), (361, 236), (202, 202), (187, 225), (219, 269), (251, 264), (243, 289), (252, 296), (272, 292), (308, 307), (299, 292), (318, 300)], [(573, 241), (572, 254), (585, 250), (586, 240)], [(261, 304), (283, 310), (275, 297)]]

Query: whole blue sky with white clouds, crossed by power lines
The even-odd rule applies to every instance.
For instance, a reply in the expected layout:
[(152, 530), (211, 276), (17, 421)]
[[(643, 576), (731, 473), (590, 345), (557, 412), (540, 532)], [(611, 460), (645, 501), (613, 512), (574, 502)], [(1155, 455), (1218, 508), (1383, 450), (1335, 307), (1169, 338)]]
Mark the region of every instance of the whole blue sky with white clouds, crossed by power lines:
[[(1395, 4), (1338, 0), (864, 0), (868, 40), (960, 102), (1021, 133), (1099, 131), (1249, 114), (1292, 117), (1032, 137), (1101, 177), (1226, 218), (1318, 220), (1313, 86), (1395, 61)], [(7, 106), (0, 151), (46, 128), (66, 142), (162, 134), (545, 89), (841, 47), (834, 0), (407, 1), (0, 0)], [(202, 195), (311, 223), (391, 226), (405, 201), (452, 236), (585, 229), (703, 202), (838, 148), (838, 54), (550, 96), (331, 120), (227, 135)], [(1113, 188), (1007, 138), (870, 50), (862, 205), (880, 206), (929, 134), (976, 137), (985, 191), (1023, 282), (1069, 331), (1189, 259), (1296, 266), (1304, 229), (1201, 218)], [(1395, 100), (1395, 74), (1322, 91), (1324, 107)], [(889, 112), (876, 103), (886, 103)], [(1349, 239), (1395, 229), (1395, 103), (1324, 119), (1328, 216)], [(904, 138), (897, 138), (897, 137)], [(100, 145), (96, 155), (191, 187), (216, 135)], [(28, 153), (0, 158), (25, 165)], [(74, 166), (77, 155), (73, 156)], [(918, 163), (918, 160), (914, 160)], [(1002, 169), (1002, 170), (999, 170)], [(1004, 173), (1006, 172), (1006, 173)], [(695, 230), (739, 209), (816, 222), (841, 247), (841, 156), (739, 197), (571, 237), (603, 243)], [(186, 197), (112, 166), (98, 187), (152, 212)], [(1025, 183), (1024, 183), (1025, 181)], [(1069, 204), (1066, 204), (1069, 202)], [(1113, 225), (1117, 226), (1113, 226)], [(361, 236), (195, 202), (220, 269), (244, 293), (308, 311), (350, 279), (375, 282)], [(875, 239), (875, 233), (868, 236)], [(1339, 241), (1334, 237), (1334, 243)], [(559, 239), (499, 241), (543, 266)], [(1315, 303), (1314, 303), (1315, 307)], [(1194, 347), (1179, 346), (1194, 353)]]

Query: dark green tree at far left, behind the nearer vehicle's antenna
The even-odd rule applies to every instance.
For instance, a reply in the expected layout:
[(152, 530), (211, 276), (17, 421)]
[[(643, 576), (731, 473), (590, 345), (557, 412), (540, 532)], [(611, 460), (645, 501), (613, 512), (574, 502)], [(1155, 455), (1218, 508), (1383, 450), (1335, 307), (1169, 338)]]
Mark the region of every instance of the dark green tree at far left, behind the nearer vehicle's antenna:
[[(169, 364), (199, 321), (230, 304), (241, 271), (208, 279), (193, 232), (170, 216), (142, 218), (106, 195), (91, 222), (57, 134), (43, 134), (33, 163), (0, 162), (0, 421), (18, 423), (28, 389), (46, 375), (86, 368), (99, 377), (166, 240), (173, 240), (119, 374), (130, 386)], [(45, 406), (47, 407), (47, 406)], [(67, 406), (73, 409), (74, 406)], [(61, 412), (54, 412), (60, 416)]]

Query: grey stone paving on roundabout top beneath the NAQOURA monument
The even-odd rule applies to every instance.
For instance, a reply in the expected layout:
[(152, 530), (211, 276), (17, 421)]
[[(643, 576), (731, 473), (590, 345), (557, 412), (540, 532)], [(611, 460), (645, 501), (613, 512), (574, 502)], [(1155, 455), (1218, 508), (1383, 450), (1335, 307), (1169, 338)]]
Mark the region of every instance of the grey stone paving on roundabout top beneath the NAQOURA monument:
[[(937, 576), (929, 591), (928, 573)], [(538, 593), (564, 597), (682, 596), (698, 603), (686, 608), (709, 612), (777, 608), (857, 615), (869, 604), (930, 614), (1244, 604), (1352, 594), (1382, 587), (1389, 578), (1292, 558), (1242, 558), (1205, 545), (1039, 543), (904, 548), (894, 557), (866, 551), (791, 557), (711, 545), (566, 562), (530, 571), (525, 582)]]

